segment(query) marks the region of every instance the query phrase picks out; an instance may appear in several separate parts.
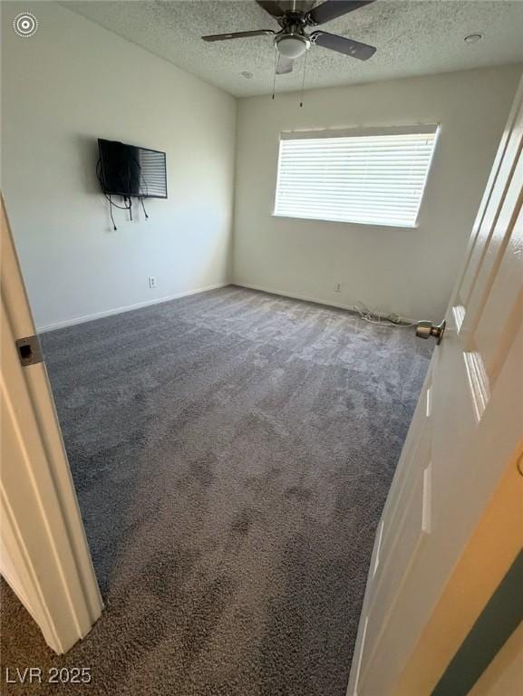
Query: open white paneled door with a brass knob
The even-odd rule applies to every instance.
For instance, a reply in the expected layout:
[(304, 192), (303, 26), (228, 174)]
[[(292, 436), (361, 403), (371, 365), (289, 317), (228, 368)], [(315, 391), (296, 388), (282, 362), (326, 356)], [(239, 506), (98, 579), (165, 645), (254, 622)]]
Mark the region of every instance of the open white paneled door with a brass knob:
[(522, 149), (523, 81), (378, 527), (348, 696), (429, 696), (523, 542)]

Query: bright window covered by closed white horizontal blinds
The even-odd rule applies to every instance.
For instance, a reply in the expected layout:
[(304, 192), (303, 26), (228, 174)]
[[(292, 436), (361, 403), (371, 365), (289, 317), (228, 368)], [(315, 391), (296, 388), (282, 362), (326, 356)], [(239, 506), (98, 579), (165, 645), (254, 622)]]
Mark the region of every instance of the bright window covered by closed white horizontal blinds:
[(415, 227), (437, 126), (282, 133), (275, 215)]

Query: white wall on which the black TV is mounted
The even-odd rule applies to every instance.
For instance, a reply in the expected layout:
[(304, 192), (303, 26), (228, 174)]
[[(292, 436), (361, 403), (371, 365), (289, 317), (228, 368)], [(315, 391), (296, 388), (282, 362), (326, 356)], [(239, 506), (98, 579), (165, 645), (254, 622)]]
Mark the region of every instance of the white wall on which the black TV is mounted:
[[(36, 325), (227, 282), (236, 100), (60, 5), (2, 5), (2, 189)], [(167, 152), (148, 221), (117, 210), (112, 230), (98, 137)]]

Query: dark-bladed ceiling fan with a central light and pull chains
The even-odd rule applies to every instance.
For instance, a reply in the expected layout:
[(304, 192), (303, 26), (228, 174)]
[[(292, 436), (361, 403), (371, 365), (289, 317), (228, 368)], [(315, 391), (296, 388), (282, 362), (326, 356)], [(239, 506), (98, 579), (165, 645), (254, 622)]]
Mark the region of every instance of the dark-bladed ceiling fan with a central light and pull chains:
[[(283, 9), (276, 0), (256, 0), (257, 5), (263, 7), (271, 17), (281, 26), (279, 32), (273, 29), (258, 29), (254, 32), (233, 32), (232, 34), (211, 34), (202, 36), (204, 41), (228, 41), (228, 39), (242, 39), (249, 36), (274, 35), (278, 52), (276, 74), (291, 73), (293, 61), (311, 47), (311, 44), (329, 48), (331, 51), (344, 53), (360, 61), (366, 61), (376, 52), (374, 46), (360, 43), (354, 39), (347, 39), (337, 34), (328, 34), (321, 30), (306, 33), (308, 27), (315, 27), (343, 14), (354, 12), (359, 7), (370, 5), (374, 0), (326, 0), (322, 5), (311, 9), (298, 9), (298, 7), (310, 7), (314, 3), (293, 2), (291, 9)], [(288, 4), (288, 3), (287, 3)]]

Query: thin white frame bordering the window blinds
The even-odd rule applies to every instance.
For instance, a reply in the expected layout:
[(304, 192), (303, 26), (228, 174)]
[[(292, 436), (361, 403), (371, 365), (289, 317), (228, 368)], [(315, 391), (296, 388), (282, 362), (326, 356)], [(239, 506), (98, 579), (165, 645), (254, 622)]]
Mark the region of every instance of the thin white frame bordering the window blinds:
[[(278, 196), (278, 188), (280, 181), (280, 154), (282, 140), (321, 140), (334, 138), (364, 138), (366, 136), (387, 136), (387, 135), (434, 135), (434, 143), (431, 151), (431, 158), (425, 174), (423, 189), (421, 191), (420, 203), (416, 212), (416, 218), (412, 225), (404, 223), (387, 223), (387, 222), (363, 222), (362, 220), (338, 220), (329, 218), (308, 218), (306, 216), (287, 215), (276, 212), (276, 201)], [(350, 128), (350, 129), (318, 129), (313, 131), (280, 131), (277, 143), (277, 159), (276, 159), (276, 188), (273, 198), (273, 208), (271, 216), (273, 218), (282, 218), (289, 220), (309, 220), (311, 222), (329, 222), (338, 223), (341, 225), (362, 225), (363, 227), (394, 227), (396, 229), (417, 229), (421, 214), (421, 207), (427, 191), (427, 185), (431, 176), (432, 165), (438, 140), (441, 134), (440, 123), (421, 123), (410, 126), (385, 126), (373, 128)]]

